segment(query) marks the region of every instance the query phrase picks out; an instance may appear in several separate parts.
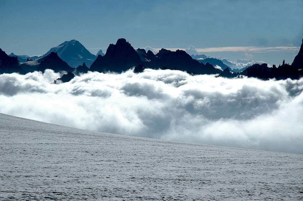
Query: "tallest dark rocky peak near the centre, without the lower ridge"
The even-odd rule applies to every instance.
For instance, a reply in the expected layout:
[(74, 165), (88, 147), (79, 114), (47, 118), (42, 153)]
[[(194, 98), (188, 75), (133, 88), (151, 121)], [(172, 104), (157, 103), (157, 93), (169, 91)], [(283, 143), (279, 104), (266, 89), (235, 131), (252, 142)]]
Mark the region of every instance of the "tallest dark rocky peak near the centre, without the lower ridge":
[(98, 72), (126, 71), (142, 63), (137, 51), (124, 38), (118, 39), (116, 44), (110, 44), (104, 56), (98, 55), (90, 70)]

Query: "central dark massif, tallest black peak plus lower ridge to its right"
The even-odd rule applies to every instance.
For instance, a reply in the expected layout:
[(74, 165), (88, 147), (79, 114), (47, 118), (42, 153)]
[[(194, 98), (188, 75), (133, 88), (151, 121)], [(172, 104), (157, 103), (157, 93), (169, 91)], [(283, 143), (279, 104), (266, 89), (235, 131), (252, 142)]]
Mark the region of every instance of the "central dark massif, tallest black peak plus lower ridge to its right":
[(183, 50), (161, 49), (156, 55), (148, 50), (135, 50), (124, 38), (110, 44), (104, 56), (99, 55), (90, 70), (98, 72), (113, 71), (121, 73), (134, 66), (135, 71), (143, 64), (146, 68), (182, 70), (193, 74), (217, 74), (222, 71), (211, 64), (199, 63)]

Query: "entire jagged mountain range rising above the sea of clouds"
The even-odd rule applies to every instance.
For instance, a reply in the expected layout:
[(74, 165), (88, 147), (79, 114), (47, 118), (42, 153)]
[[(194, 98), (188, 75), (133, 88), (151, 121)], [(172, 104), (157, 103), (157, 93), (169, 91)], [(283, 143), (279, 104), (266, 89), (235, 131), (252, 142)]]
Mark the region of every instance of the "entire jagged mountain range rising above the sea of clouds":
[[(8, 56), (0, 49), (0, 73), (25, 74), (35, 70), (43, 72), (45, 69), (52, 69), (55, 72), (66, 71), (78, 75), (88, 71), (121, 73), (135, 67), (136, 73), (142, 72), (145, 68), (171, 69), (191, 74), (218, 74), (230, 78), (248, 76), (260, 79), (298, 79), (303, 75), (303, 40), (299, 53), (291, 65), (283, 61), (282, 65), (278, 67), (274, 65), (272, 68), (266, 63), (245, 60), (244, 62), (253, 64), (242, 69), (232, 69), (227, 65), (233, 64), (229, 60), (206, 57), (204, 54), (190, 56), (183, 50), (171, 51), (162, 48), (154, 54), (150, 50), (147, 52), (140, 48), (135, 50), (124, 38), (118, 39), (116, 44), (110, 44), (105, 54), (100, 50), (97, 55), (90, 53), (76, 40), (65, 41), (51, 48), (42, 57), (13, 53)], [(25, 59), (27, 61), (22, 62)], [(69, 74), (68, 77), (72, 76)]]

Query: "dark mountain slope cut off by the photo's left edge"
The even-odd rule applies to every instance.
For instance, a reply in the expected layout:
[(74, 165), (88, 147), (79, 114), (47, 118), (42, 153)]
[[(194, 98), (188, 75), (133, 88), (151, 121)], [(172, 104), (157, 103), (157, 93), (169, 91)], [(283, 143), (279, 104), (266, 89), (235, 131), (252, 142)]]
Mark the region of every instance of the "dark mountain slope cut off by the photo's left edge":
[(8, 56), (5, 51), (0, 48), (0, 73), (25, 74), (25, 71), (19, 66), (17, 57)]

